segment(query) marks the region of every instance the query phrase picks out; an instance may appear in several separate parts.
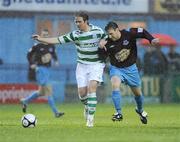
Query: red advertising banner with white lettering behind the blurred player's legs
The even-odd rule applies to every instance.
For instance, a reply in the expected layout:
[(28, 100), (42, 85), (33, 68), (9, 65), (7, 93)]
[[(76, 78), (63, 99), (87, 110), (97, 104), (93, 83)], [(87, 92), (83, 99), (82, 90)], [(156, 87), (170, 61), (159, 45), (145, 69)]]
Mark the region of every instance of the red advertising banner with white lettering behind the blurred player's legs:
[[(34, 84), (0, 84), (0, 103), (19, 103), (21, 98), (29, 96), (38, 86)], [(35, 102), (46, 102), (39, 97)]]

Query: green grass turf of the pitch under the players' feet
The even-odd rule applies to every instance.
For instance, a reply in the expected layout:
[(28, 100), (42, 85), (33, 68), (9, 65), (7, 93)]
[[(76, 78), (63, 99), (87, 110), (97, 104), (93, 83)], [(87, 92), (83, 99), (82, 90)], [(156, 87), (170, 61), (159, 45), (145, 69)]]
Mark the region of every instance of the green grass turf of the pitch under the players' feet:
[(98, 104), (95, 126), (86, 128), (82, 105), (59, 106), (66, 114), (54, 118), (48, 105), (31, 104), (35, 128), (23, 128), (20, 105), (0, 105), (0, 142), (180, 142), (180, 104), (146, 105), (147, 125), (134, 106), (123, 106), (124, 120), (112, 122), (111, 104)]

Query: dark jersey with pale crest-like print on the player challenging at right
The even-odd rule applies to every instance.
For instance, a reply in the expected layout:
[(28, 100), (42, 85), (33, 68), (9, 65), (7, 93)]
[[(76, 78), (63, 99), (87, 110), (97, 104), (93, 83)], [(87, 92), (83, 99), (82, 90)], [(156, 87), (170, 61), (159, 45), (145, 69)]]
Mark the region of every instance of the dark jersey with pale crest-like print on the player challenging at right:
[(120, 33), (120, 39), (112, 41), (108, 38), (105, 45), (107, 50), (99, 48), (98, 52), (100, 59), (104, 60), (109, 57), (111, 65), (123, 68), (136, 63), (136, 40), (145, 38), (151, 42), (154, 37), (143, 28), (131, 28), (128, 31), (121, 30)]

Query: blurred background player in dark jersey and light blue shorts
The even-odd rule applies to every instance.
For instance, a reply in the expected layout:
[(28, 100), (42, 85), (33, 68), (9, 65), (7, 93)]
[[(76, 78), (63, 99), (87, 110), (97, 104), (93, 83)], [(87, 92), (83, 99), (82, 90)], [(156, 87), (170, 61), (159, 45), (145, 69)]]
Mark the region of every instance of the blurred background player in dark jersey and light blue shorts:
[[(49, 32), (47, 29), (41, 31), (42, 37), (48, 37)], [(50, 84), (50, 67), (51, 61), (54, 59), (54, 63), (58, 65), (57, 55), (55, 52), (55, 46), (52, 44), (39, 43), (30, 48), (27, 58), (29, 66), (32, 70), (35, 70), (36, 82), (39, 85), (39, 90), (33, 92), (30, 96), (21, 99), (22, 110), (25, 113), (27, 110), (27, 104), (32, 100), (40, 97), (47, 96), (48, 103), (55, 115), (60, 117), (64, 115), (63, 112), (59, 112), (56, 108), (54, 98), (52, 96), (52, 86)]]

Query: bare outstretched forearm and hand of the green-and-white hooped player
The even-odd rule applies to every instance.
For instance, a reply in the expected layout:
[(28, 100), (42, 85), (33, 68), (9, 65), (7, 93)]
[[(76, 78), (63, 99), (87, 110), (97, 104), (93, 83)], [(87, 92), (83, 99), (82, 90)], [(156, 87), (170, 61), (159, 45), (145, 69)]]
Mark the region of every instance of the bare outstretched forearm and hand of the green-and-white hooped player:
[(58, 44), (59, 43), (59, 40), (57, 37), (44, 38), (44, 37), (41, 37), (41, 36), (35, 34), (35, 35), (32, 35), (32, 39), (37, 40), (42, 43), (46, 43), (46, 44)]

